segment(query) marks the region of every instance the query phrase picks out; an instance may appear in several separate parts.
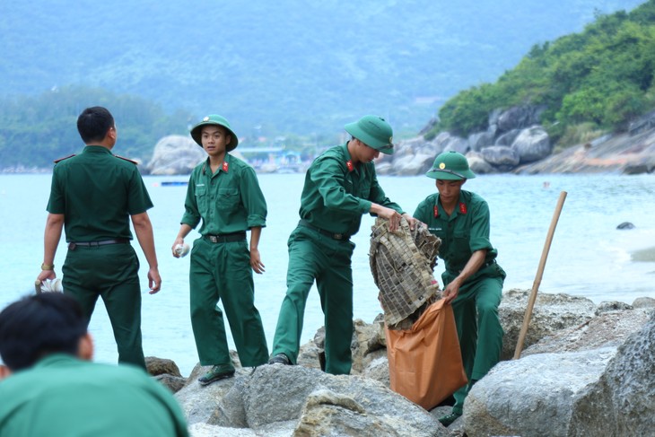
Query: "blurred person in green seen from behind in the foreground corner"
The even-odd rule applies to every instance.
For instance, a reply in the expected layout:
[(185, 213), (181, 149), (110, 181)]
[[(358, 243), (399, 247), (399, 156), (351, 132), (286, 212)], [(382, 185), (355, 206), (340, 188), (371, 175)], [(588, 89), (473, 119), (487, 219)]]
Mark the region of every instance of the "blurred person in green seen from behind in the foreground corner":
[(141, 369), (92, 363), (78, 302), (40, 293), (0, 312), (0, 437), (188, 436), (172, 394)]

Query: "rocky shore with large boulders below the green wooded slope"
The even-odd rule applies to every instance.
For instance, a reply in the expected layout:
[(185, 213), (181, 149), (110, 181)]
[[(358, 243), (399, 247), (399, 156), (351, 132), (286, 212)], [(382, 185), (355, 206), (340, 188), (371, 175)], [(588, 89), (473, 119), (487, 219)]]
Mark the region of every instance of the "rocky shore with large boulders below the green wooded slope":
[(430, 169), (436, 155), (454, 150), (467, 155), (477, 174), (593, 173), (623, 174), (655, 171), (655, 113), (635, 120), (627, 132), (601, 136), (554, 151), (541, 109), (525, 106), (496, 109), (485, 131), (467, 137), (442, 132), (432, 140), (422, 135), (397, 144), (397, 153), (380, 157), (379, 174), (414, 176)]

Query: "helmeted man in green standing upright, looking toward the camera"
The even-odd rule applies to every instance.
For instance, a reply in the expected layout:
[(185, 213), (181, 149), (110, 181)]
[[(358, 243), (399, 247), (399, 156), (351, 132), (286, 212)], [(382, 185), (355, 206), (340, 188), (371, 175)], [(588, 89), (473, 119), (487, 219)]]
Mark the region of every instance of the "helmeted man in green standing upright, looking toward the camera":
[[(219, 301), (223, 302), (241, 365), (254, 367), (268, 359), (252, 278), (253, 270), (264, 273), (258, 244), (266, 226), (266, 200), (255, 170), (228, 153), (237, 147), (239, 139), (225, 118), (203, 118), (191, 129), (191, 136), (208, 156), (191, 173), (185, 213), (172, 250), (178, 258), (176, 248), (202, 219), (201, 237), (191, 250), (189, 283), (198, 357), (202, 365), (213, 366), (198, 379), (205, 385), (234, 374)], [(249, 245), (246, 231), (250, 231)]]

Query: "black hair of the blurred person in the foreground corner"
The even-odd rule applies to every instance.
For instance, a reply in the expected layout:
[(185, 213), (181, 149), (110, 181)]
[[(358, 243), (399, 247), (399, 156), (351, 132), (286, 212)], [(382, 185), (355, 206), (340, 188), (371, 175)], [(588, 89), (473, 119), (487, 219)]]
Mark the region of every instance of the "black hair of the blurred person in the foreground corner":
[(88, 321), (80, 304), (63, 293), (40, 293), (0, 312), (0, 356), (11, 371), (49, 354), (77, 354)]

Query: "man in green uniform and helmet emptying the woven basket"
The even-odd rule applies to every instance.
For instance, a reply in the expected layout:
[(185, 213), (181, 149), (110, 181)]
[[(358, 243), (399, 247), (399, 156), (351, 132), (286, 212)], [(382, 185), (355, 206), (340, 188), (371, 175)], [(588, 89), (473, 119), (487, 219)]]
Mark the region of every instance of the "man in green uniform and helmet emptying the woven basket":
[(296, 363), (305, 302), (316, 280), (325, 315), (325, 371), (348, 374), (352, 366), (354, 243), (362, 214), (389, 219), (397, 230), (401, 214), (386, 197), (373, 160), (394, 152), (392, 129), (383, 118), (365, 116), (345, 125), (352, 139), (322, 153), (307, 170), (298, 227), (289, 237), (287, 291), (275, 328), (269, 363)]

